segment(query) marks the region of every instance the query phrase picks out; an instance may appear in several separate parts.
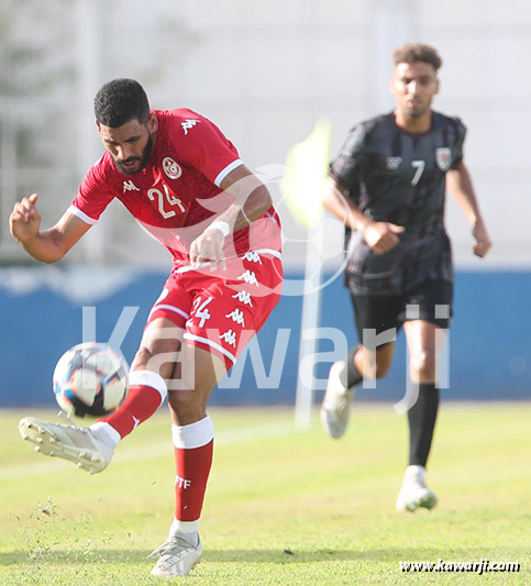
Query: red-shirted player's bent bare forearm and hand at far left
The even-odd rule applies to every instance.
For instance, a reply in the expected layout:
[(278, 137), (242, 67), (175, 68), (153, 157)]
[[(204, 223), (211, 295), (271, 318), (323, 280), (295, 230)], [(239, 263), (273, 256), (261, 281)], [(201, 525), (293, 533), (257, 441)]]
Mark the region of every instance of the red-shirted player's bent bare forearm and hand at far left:
[(90, 229), (90, 224), (66, 211), (48, 230), (41, 231), (41, 214), (36, 209), (38, 195), (33, 194), (14, 204), (9, 218), (11, 234), (36, 261), (55, 263)]

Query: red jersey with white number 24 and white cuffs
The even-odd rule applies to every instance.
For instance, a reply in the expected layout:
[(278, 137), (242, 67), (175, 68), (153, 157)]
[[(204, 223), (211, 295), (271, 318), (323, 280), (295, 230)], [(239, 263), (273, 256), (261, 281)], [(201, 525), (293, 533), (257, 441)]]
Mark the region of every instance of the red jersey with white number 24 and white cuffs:
[[(168, 248), (177, 265), (188, 264), (190, 244), (234, 200), (220, 188), (242, 165), (234, 145), (210, 120), (180, 108), (155, 110), (158, 130), (147, 166), (126, 175), (104, 155), (85, 176), (70, 212), (95, 224), (113, 198)], [(226, 239), (225, 256), (280, 251), (280, 222), (274, 208)]]

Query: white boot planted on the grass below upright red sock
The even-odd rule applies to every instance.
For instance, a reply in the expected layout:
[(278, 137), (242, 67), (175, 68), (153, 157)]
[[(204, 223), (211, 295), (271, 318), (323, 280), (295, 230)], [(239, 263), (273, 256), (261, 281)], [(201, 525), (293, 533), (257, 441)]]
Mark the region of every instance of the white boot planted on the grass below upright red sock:
[(152, 570), (154, 576), (187, 576), (201, 561), (202, 544), (199, 535), (197, 545), (192, 545), (182, 533), (172, 535), (147, 557), (158, 555)]

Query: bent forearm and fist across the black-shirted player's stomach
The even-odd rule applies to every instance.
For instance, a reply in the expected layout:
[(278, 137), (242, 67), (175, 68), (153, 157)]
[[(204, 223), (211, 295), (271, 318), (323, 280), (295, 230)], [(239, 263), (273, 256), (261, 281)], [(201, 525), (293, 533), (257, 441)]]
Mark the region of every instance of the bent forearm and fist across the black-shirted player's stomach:
[(335, 179), (329, 177), (324, 186), (323, 206), (352, 230), (359, 232), (375, 254), (384, 254), (394, 248), (398, 234), (405, 231), (401, 225), (390, 222), (375, 222), (346, 197), (346, 190)]

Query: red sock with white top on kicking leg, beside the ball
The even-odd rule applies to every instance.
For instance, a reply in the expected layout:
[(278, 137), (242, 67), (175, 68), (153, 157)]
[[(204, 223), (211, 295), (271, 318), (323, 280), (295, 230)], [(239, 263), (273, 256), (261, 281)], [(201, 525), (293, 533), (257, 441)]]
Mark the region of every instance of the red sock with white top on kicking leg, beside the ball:
[(129, 376), (129, 391), (118, 411), (99, 419), (114, 428), (121, 438), (129, 435), (161, 407), (167, 395), (163, 377), (152, 371), (134, 371)]

